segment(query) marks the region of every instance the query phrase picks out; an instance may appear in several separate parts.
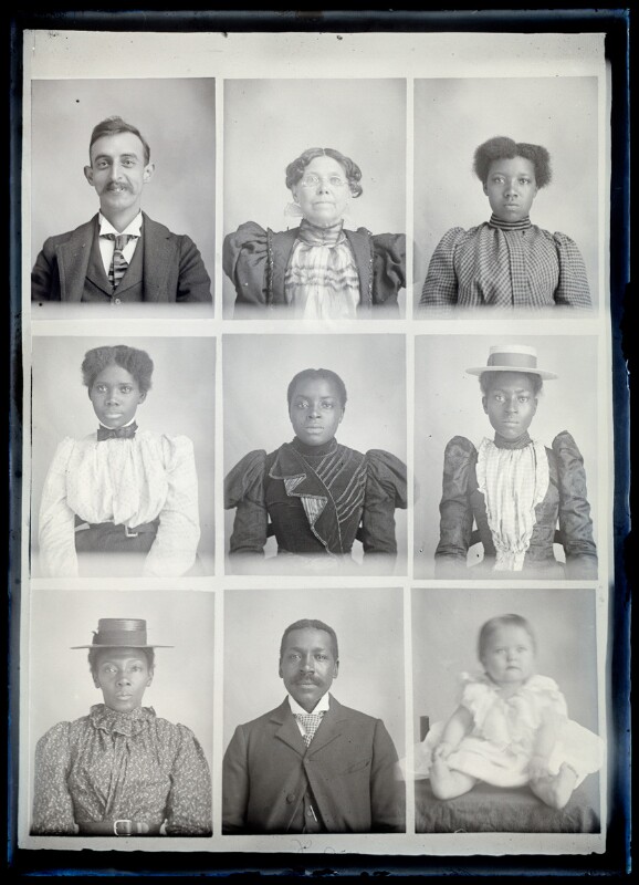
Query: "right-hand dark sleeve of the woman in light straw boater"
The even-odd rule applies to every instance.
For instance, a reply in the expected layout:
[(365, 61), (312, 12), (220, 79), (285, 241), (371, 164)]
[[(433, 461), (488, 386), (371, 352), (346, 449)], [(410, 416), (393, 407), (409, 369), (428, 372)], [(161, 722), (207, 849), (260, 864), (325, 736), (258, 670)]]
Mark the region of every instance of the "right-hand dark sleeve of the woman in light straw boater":
[(597, 577), (597, 548), (586, 489), (584, 459), (567, 430), (553, 439), (559, 482), (559, 530), (566, 553), (567, 577)]

